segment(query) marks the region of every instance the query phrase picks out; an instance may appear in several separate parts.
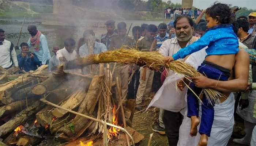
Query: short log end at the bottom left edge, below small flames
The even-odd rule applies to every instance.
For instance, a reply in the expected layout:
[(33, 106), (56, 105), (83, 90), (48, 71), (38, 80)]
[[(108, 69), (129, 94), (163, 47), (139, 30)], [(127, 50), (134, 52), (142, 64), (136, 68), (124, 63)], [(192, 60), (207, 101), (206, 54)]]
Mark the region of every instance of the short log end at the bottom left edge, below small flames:
[(29, 145), (35, 145), (42, 141), (42, 138), (37, 137), (30, 137), (29, 135), (25, 135), (21, 138), (19, 138), (19, 141), (17, 142), (17, 146), (29, 146)]

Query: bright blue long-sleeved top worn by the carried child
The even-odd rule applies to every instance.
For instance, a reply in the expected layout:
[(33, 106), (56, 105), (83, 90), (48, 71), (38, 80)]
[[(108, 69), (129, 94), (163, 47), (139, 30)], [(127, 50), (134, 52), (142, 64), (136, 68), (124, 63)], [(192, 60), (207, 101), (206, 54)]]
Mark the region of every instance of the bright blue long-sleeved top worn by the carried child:
[(238, 52), (238, 39), (232, 24), (221, 24), (210, 28), (200, 39), (180, 49), (172, 57), (174, 60), (185, 58), (206, 46), (208, 46), (206, 49), (207, 56), (236, 54)]

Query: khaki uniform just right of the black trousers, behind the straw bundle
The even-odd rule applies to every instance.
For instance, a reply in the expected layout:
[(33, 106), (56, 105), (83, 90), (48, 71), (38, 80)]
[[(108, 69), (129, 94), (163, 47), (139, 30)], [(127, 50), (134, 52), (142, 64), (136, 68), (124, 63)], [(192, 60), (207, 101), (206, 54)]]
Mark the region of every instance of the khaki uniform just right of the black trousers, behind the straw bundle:
[[(144, 37), (139, 40), (137, 43), (138, 49), (141, 51), (149, 51), (152, 45), (152, 42), (147, 37)], [(156, 50), (156, 44), (153, 46), (153, 51)], [(151, 92), (153, 78), (154, 78), (154, 70), (147, 69), (146, 71), (146, 80), (142, 80), (144, 68), (140, 68), (140, 84), (138, 87), (137, 95), (136, 95), (136, 104), (142, 103), (143, 97), (148, 97)]]

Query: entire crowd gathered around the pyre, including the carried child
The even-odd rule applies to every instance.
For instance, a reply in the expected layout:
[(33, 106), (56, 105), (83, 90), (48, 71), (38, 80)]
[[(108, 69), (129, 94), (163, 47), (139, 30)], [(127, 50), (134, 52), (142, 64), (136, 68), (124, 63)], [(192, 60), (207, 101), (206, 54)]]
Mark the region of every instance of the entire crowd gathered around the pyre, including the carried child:
[[(206, 20), (201, 19), (204, 14)], [(5, 69), (15, 66), (29, 72), (47, 64), (52, 71), (78, 56), (99, 54), (122, 46), (158, 51), (165, 56), (166, 63), (180, 59), (202, 74), (186, 80), (171, 70), (153, 71), (136, 64), (117, 65), (113, 76), (120, 79), (121, 96), (136, 100), (136, 110), (143, 110), (150, 92), (156, 93), (148, 106), (160, 108), (159, 122), (153, 125), (153, 131), (166, 134), (170, 146), (226, 146), (233, 131), (233, 114), (237, 112), (245, 121), (246, 135), (233, 141), (255, 146), (256, 86), (253, 82), (256, 81), (256, 68), (249, 67), (249, 55), (245, 50), (256, 52), (256, 12), (235, 19), (228, 5), (215, 3), (204, 11), (167, 8), (165, 18), (175, 20), (158, 26), (134, 26), (132, 36), (127, 35), (125, 22), (118, 23), (116, 29), (115, 21), (108, 20), (106, 33), (100, 39), (96, 39), (93, 30), (85, 30), (76, 48), (76, 41), (67, 38), (63, 49), (53, 46), (52, 57), (45, 35), (36, 26), (28, 26), (30, 39), (16, 47), (5, 39), (5, 31), (0, 29), (0, 66)], [(17, 49), (21, 54), (16, 55)], [(82, 73), (88, 72), (88, 68), (82, 69)], [(198, 96), (202, 88), (212, 88), (225, 97), (219, 97), (218, 103), (214, 103), (203, 95), (199, 102), (184, 83)], [(235, 99), (236, 92), (241, 92), (241, 99), (240, 96)], [(240, 104), (237, 109), (235, 100)]]

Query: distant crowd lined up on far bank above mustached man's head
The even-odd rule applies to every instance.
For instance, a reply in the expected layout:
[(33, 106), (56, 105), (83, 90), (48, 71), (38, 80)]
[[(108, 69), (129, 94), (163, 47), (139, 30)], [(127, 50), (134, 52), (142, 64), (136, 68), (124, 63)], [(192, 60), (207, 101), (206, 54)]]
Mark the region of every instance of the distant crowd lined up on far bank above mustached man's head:
[(192, 8), (172, 8), (168, 7), (164, 11), (165, 19), (174, 19), (181, 15), (189, 16), (193, 19), (196, 19), (200, 13), (202, 13), (203, 9), (192, 9)]

